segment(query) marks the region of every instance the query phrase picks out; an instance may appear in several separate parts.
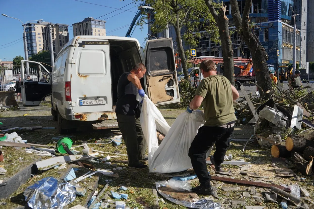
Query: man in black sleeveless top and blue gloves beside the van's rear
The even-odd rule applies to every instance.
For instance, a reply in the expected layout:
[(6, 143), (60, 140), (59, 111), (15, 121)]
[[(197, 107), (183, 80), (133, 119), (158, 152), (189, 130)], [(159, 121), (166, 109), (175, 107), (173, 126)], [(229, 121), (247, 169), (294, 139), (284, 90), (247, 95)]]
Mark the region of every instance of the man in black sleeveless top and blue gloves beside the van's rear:
[[(144, 97), (145, 92), (139, 79), (146, 73), (146, 67), (139, 63), (130, 72), (123, 73), (118, 81), (118, 100), (116, 116), (122, 138), (127, 146), (127, 157), (130, 168), (145, 169), (140, 161), (148, 161), (145, 155), (147, 143), (139, 121), (140, 108), (136, 100), (137, 94)], [(142, 100), (143, 101), (143, 100)]]

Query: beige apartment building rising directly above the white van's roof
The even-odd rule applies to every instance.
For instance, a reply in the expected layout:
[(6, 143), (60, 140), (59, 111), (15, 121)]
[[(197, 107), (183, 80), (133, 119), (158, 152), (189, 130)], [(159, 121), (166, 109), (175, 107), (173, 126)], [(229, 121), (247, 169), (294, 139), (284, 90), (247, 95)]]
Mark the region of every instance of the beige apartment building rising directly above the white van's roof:
[(79, 23), (72, 24), (73, 37), (77, 35), (106, 36), (105, 23), (104, 20), (96, 20), (92, 17), (85, 18)]

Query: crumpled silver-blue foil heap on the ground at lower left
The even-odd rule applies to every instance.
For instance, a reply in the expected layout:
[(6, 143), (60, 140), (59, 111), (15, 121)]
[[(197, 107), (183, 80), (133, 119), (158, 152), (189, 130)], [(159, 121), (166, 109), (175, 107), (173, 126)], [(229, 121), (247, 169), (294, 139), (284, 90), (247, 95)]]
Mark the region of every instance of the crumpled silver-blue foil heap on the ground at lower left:
[(46, 177), (24, 191), (25, 201), (33, 209), (63, 208), (76, 197), (75, 186), (63, 179)]

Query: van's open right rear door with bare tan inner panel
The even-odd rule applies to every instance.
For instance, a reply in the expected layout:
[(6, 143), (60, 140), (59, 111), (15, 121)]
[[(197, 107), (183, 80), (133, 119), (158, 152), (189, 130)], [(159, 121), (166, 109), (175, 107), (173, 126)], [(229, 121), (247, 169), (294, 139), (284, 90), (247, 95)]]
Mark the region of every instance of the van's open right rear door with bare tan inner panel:
[(148, 40), (145, 47), (146, 94), (155, 105), (180, 102), (172, 38)]

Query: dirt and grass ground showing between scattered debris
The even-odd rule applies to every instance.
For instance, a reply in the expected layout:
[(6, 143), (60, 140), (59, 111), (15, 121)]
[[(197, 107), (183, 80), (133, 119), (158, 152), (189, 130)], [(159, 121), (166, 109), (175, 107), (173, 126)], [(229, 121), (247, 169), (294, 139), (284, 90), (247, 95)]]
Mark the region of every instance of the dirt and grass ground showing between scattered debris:
[[(0, 129), (6, 129), (6, 128), (13, 128), (13, 127), (30, 127), (30, 126), (43, 126), (43, 127), (56, 127), (57, 124), (55, 121), (52, 120), (52, 116), (50, 113), (50, 101), (47, 97), (46, 102), (42, 102), (39, 107), (23, 107), (21, 102), (19, 103), (19, 109), (14, 111), (7, 111), (7, 112), (0, 112), (0, 122), (3, 123), (3, 126), (6, 126), (5, 128)], [(185, 110), (180, 109), (160, 109), (160, 112), (163, 114), (164, 118), (168, 122), (168, 124), (171, 126), (171, 124), (175, 121), (176, 117), (184, 112)], [(2, 127), (3, 127), (2, 126)], [(248, 139), (253, 134), (253, 128), (252, 125), (241, 125), (236, 126), (235, 131), (233, 135), (231, 136), (232, 139)], [(49, 134), (49, 135), (48, 135)], [(88, 143), (95, 143), (96, 140), (104, 137), (110, 137), (114, 135), (119, 135), (119, 130), (92, 130), (91, 128), (86, 129), (78, 129), (76, 133), (71, 133), (70, 138), (73, 140), (73, 147), (81, 145), (84, 141)], [(27, 140), (28, 143), (36, 143), (36, 144), (46, 144), (48, 146), (54, 147), (54, 141), (52, 137), (59, 136), (57, 133), (57, 129), (37, 129), (34, 131), (23, 131), (19, 132), (19, 135), (22, 137), (23, 140)], [(236, 179), (242, 179), (242, 180), (250, 180), (250, 181), (260, 181), (263, 183), (272, 183), (272, 184), (298, 184), (300, 187), (304, 187), (307, 189), (307, 191), (310, 193), (310, 196), (308, 196), (308, 199), (302, 199), (304, 203), (306, 203), (309, 208), (314, 208), (314, 203), (312, 202), (314, 197), (314, 187), (313, 187), (313, 176), (303, 176), (297, 171), (296, 176), (292, 177), (277, 177), (274, 166), (277, 166), (279, 168), (287, 168), (288, 165), (284, 162), (273, 162), (270, 154), (270, 149), (262, 149), (258, 144), (252, 143), (248, 144), (246, 146), (245, 151), (243, 152), (245, 141), (231, 141), (230, 147), (227, 151), (228, 154), (233, 155), (233, 159), (244, 159), (245, 161), (251, 162), (251, 167), (247, 170), (248, 172), (255, 172), (259, 176), (266, 176), (266, 178), (257, 178), (257, 177), (251, 177), (251, 176), (245, 176), (240, 174), (240, 167), (234, 166), (234, 165), (223, 165), (223, 170), (225, 172), (230, 173), (230, 176), (225, 177), (231, 177)], [(93, 147), (95, 150), (99, 150), (102, 152), (109, 152), (111, 154), (109, 155), (115, 155), (115, 153), (119, 154), (126, 154), (126, 147), (124, 143), (120, 146), (113, 146), (112, 144), (105, 144), (105, 145), (96, 145), (96, 144), (90, 144), (90, 147)], [(81, 151), (83, 147), (75, 148), (78, 151)], [(5, 159), (8, 157), (8, 148), (3, 147), (4, 157)], [(257, 151), (258, 150), (258, 151)], [(255, 152), (253, 152), (255, 151)], [(212, 154), (214, 153), (214, 149), (212, 151)], [(106, 153), (104, 153), (103, 157), (106, 157)], [(102, 157), (102, 156), (99, 156)], [(42, 157), (42, 159), (46, 159), (48, 157)], [(118, 161), (116, 161), (118, 160)], [(120, 161), (119, 161), (120, 160)], [(117, 164), (118, 167), (125, 167), (127, 166), (123, 161), (121, 160), (127, 160), (126, 156), (119, 156), (116, 158), (111, 159), (112, 164)], [(7, 166), (9, 166), (8, 162), (6, 161)], [(92, 164), (95, 166), (95, 168), (110, 168), (112, 169), (112, 166), (105, 165), (104, 163), (97, 163), (97, 162), (88, 162), (89, 164)], [(0, 163), (0, 167), (1, 167)], [(3, 164), (4, 165), (4, 164)], [(67, 165), (67, 168), (69, 168), (69, 165)], [(293, 168), (292, 168), (293, 169)], [(17, 208), (19, 206), (24, 206), (26, 204), (26, 201), (24, 200), (23, 192), (27, 188), (27, 186), (34, 184), (36, 181), (49, 176), (55, 176), (59, 177), (66, 171), (65, 170), (54, 170), (51, 169), (49, 171), (40, 171), (38, 174), (35, 175), (33, 179), (30, 179), (27, 181), (24, 185), (20, 186), (20, 188), (11, 195), (8, 199), (0, 200), (0, 205), (3, 202), (3, 205), (1, 208)], [(208, 170), (211, 172), (212, 175), (218, 175), (214, 173), (214, 170), (208, 166)], [(169, 180), (169, 178), (160, 177), (159, 175), (156, 175), (154, 173), (149, 173), (148, 170), (143, 171), (135, 171), (132, 169), (123, 169), (123, 170), (117, 170), (115, 171), (119, 174), (119, 178), (110, 178), (110, 177), (104, 177), (102, 175), (99, 175), (100, 179), (98, 182), (98, 188), (97, 190), (100, 191), (102, 188), (108, 183), (108, 180), (112, 180), (109, 182), (109, 187), (106, 190), (105, 194), (110, 194), (110, 191), (117, 191), (120, 185), (125, 185), (128, 187), (128, 190), (124, 193), (128, 194), (128, 200), (126, 201), (127, 207), (130, 208), (153, 208), (154, 207), (154, 196), (152, 194), (152, 187), (155, 185), (156, 181), (159, 180)], [(303, 179), (304, 178), (304, 179)], [(1, 175), (0, 175), (1, 179)], [(106, 181), (107, 180), (107, 181)], [(192, 180), (190, 181), (191, 185), (198, 185), (198, 180)], [(222, 204), (222, 208), (244, 208), (244, 206), (235, 204), (235, 200), (244, 201), (244, 205), (246, 206), (265, 206), (265, 208), (273, 209), (273, 208), (280, 208), (280, 201), (277, 202), (270, 202), (266, 201), (265, 195), (264, 195), (264, 188), (258, 188), (257, 190), (257, 196), (262, 197), (261, 201), (256, 200), (258, 198), (254, 198), (253, 195), (243, 196), (243, 192), (250, 192), (250, 187), (247, 185), (232, 185), (228, 184), (226, 182), (220, 182), (220, 181), (214, 181), (213, 180), (214, 187), (217, 188), (217, 194), (218, 198), (215, 198), (213, 196), (200, 196), (209, 200), (212, 200), (214, 202), (218, 202)], [(232, 186), (237, 187), (239, 186), (240, 189), (237, 191), (224, 191), (223, 188), (226, 186)], [(90, 192), (90, 191), (88, 191)], [(164, 198), (162, 196), (159, 197), (159, 207), (162, 209), (175, 209), (175, 208), (186, 208), (180, 205), (176, 205)], [(80, 197), (77, 198), (74, 202), (72, 202), (70, 206), (75, 206), (77, 204), (84, 205), (84, 198)], [(109, 197), (110, 199), (110, 197)], [(163, 200), (161, 200), (163, 199)], [(280, 199), (281, 200), (281, 199)], [(293, 208), (293, 204), (288, 202), (288, 205)]]

